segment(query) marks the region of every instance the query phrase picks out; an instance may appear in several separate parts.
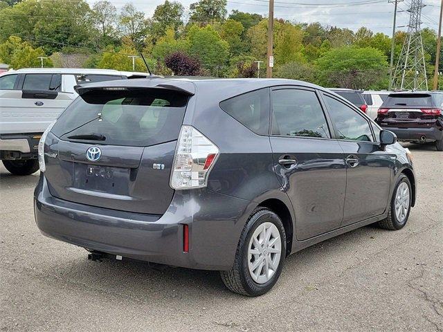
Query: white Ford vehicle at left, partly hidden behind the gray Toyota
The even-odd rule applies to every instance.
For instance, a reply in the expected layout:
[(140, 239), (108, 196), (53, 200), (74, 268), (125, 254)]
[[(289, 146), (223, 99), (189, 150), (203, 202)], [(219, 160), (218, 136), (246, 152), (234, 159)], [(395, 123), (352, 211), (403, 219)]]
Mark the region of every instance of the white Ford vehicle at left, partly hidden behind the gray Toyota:
[(0, 75), (0, 160), (9, 172), (37, 172), (43, 131), (75, 99), (74, 86), (147, 77), (146, 73), (83, 68), (30, 68)]

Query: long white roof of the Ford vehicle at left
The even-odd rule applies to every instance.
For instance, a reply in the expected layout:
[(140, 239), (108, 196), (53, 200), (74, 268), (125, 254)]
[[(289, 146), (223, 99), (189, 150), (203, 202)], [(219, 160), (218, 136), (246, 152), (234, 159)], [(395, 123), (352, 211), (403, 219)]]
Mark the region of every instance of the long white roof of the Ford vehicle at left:
[(5, 74), (96, 74), (96, 75), (124, 75), (124, 76), (147, 76), (149, 74), (132, 71), (116, 71), (114, 69), (91, 69), (91, 68), (21, 68), (17, 70), (7, 71)]

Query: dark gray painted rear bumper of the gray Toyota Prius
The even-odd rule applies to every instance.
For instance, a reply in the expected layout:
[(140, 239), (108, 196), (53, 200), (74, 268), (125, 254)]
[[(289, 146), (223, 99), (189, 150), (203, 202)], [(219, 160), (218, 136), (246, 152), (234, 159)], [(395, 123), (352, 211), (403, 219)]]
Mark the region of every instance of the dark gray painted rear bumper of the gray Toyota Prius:
[[(39, 230), (54, 239), (153, 263), (228, 270), (253, 206), (206, 190), (176, 191), (163, 216), (135, 214), (57, 199), (42, 174), (34, 208)], [(208, 219), (210, 215), (219, 219)], [(188, 253), (183, 252), (183, 224), (190, 232)]]

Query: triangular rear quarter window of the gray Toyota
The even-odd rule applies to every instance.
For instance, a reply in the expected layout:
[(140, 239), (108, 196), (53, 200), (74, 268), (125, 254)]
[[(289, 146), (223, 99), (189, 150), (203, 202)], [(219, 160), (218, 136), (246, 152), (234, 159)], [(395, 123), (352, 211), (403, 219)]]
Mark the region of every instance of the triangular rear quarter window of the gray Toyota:
[(220, 102), (220, 107), (254, 133), (269, 133), (269, 89), (237, 95)]

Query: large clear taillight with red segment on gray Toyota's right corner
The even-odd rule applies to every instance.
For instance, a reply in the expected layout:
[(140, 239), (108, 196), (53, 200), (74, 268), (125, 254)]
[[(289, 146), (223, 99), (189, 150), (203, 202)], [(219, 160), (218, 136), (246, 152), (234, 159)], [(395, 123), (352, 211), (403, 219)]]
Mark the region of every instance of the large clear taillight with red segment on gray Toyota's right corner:
[(173, 189), (206, 187), (219, 156), (218, 147), (191, 126), (182, 126), (175, 150), (170, 185)]

